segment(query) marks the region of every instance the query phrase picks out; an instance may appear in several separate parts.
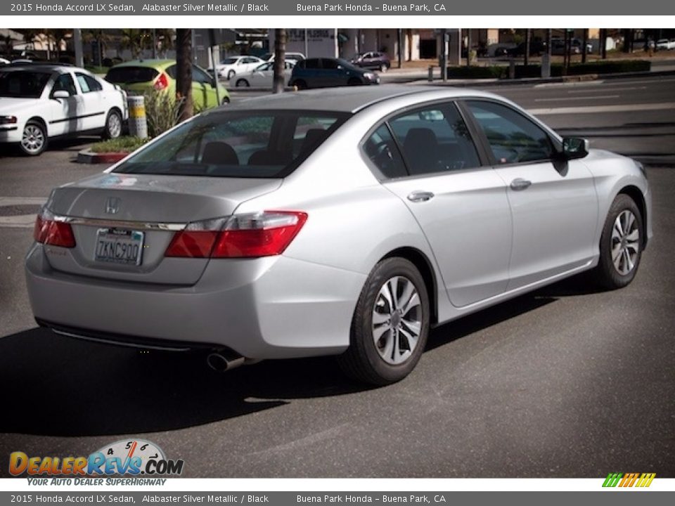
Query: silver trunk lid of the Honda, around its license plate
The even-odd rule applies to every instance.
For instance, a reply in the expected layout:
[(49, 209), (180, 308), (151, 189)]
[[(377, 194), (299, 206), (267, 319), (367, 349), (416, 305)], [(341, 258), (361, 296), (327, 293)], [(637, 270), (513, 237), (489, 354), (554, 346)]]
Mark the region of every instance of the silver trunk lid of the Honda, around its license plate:
[[(46, 208), (68, 218), (75, 247), (46, 246), (46, 257), (52, 268), (65, 273), (193, 285), (208, 259), (165, 257), (174, 233), (191, 221), (229, 216), (241, 202), (270, 193), (281, 182), (110, 173), (61, 186)], [(110, 248), (122, 247), (136, 249), (139, 255), (127, 257), (127, 263), (111, 261)]]

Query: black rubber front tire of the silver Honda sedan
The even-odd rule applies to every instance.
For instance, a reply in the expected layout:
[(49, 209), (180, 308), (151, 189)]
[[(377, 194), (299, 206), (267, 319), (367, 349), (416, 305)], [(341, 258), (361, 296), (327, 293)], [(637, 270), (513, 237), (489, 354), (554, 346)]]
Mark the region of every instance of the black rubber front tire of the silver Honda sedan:
[[(619, 215), (622, 215), (624, 212), (629, 212), (635, 217), (635, 230), (638, 231), (638, 238), (636, 242), (628, 241), (626, 239), (618, 240), (616, 235), (618, 230), (615, 231), (615, 223), (619, 218)], [(626, 216), (626, 215), (624, 215)], [(629, 215), (628, 215), (629, 216)], [(603, 234), (600, 237), (600, 261), (598, 261), (598, 266), (596, 267), (595, 275), (598, 284), (608, 290), (615, 290), (617, 288), (622, 288), (635, 278), (635, 275), (640, 266), (640, 259), (642, 257), (642, 247), (644, 243), (644, 233), (645, 228), (643, 226), (643, 216), (636, 205), (635, 201), (631, 199), (628, 195), (620, 193), (612, 202), (610, 211), (607, 214), (607, 219), (605, 220), (605, 226), (603, 227)], [(629, 237), (633, 231), (633, 228), (629, 231), (626, 231), (626, 236)], [(620, 234), (619, 234), (620, 235)], [(627, 272), (620, 272), (619, 267), (615, 265), (615, 259), (612, 258), (612, 249), (621, 248), (623, 244), (632, 244), (633, 247), (626, 248), (629, 256), (631, 252), (636, 249), (634, 259), (632, 259), (633, 266)], [(616, 251), (616, 249), (615, 249)], [(621, 256), (621, 254), (619, 254)], [(615, 255), (616, 257), (616, 255)], [(622, 264), (622, 261), (624, 263)], [(626, 266), (630, 264), (625, 263), (625, 258), (619, 260), (619, 266)]]

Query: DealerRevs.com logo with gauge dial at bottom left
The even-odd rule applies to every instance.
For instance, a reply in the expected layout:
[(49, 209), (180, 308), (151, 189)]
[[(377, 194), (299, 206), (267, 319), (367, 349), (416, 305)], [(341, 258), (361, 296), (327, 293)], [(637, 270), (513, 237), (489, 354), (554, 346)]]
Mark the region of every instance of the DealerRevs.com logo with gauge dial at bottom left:
[(86, 457), (39, 457), (21, 451), (9, 456), (12, 476), (27, 474), (30, 477), (75, 479), (84, 476), (179, 476), (183, 467), (183, 460), (167, 459), (159, 446), (142, 439), (117, 441)]

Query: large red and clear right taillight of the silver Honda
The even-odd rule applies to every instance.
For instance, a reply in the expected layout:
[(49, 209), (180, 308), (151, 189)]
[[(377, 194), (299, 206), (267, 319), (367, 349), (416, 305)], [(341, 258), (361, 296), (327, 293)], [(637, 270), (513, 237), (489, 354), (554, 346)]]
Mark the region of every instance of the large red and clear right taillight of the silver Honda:
[(284, 252), (307, 213), (265, 211), (190, 223), (174, 235), (165, 257), (255, 258)]

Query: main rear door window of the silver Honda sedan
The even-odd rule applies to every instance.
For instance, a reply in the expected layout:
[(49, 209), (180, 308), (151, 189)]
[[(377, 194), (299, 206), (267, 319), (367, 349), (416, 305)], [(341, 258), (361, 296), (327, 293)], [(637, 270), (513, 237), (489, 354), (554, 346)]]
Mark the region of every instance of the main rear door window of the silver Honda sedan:
[(405, 112), (389, 124), (412, 176), (480, 167), (476, 147), (453, 104)]

